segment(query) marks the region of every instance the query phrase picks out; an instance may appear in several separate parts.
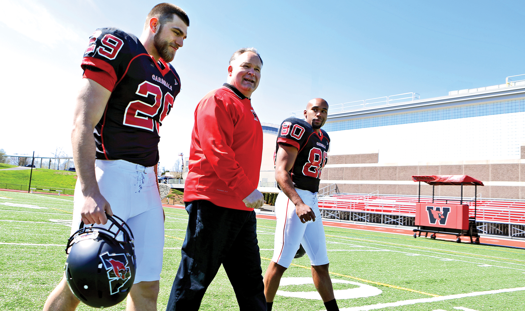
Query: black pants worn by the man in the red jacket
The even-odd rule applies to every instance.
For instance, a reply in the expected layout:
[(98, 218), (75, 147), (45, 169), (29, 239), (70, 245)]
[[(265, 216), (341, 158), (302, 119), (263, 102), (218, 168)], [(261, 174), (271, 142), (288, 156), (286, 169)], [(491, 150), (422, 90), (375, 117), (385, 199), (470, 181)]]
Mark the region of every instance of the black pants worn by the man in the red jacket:
[[(185, 202), (190, 218), (166, 311), (196, 311), (223, 264), (240, 311), (266, 311), (254, 211)], [(217, 306), (218, 308), (218, 306)]]

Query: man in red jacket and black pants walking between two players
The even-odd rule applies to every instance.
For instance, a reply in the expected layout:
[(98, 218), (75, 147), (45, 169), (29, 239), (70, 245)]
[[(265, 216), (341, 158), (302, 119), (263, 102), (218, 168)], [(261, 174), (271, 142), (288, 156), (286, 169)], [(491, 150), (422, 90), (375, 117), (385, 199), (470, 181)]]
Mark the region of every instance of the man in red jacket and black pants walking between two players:
[(167, 311), (198, 310), (220, 264), (240, 310), (266, 310), (254, 212), (264, 204), (257, 190), (262, 128), (250, 103), (261, 67), (256, 49), (237, 50), (228, 83), (195, 109), (184, 187), (190, 217)]

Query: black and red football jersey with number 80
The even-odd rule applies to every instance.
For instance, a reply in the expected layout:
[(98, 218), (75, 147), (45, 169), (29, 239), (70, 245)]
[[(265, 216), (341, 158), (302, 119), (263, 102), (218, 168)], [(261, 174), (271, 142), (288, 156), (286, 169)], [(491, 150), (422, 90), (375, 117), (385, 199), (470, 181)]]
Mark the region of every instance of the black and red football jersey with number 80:
[(289, 117), (281, 123), (277, 134), (277, 146), (288, 144), (299, 149), (297, 158), (290, 170), (295, 187), (317, 192), (321, 180), (321, 169), (328, 162), (328, 148), (330, 137), (327, 132), (320, 130), (319, 134), (304, 120)]

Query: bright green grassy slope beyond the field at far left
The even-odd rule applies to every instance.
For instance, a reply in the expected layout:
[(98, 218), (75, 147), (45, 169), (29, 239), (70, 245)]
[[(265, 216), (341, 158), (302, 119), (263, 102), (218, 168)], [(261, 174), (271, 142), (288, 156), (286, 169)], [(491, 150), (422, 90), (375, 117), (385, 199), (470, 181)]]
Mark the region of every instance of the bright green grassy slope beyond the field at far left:
[[(15, 185), (29, 185), (30, 169), (0, 170), (0, 187), (3, 183)], [(69, 188), (74, 189), (77, 173), (67, 170), (34, 168), (31, 178), (31, 188)], [(37, 186), (37, 187), (34, 187)], [(69, 194), (69, 192), (67, 192)]]

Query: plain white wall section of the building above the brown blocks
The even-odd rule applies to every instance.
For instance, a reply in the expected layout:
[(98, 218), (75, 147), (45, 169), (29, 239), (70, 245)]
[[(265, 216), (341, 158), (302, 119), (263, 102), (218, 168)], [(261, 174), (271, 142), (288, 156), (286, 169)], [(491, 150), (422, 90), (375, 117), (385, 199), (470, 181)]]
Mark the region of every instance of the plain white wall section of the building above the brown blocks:
[(373, 153), (380, 163), (519, 159), (525, 112), (334, 131), (330, 155)]

